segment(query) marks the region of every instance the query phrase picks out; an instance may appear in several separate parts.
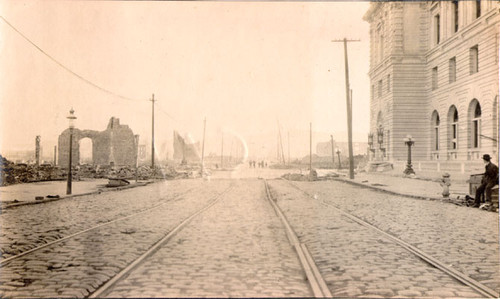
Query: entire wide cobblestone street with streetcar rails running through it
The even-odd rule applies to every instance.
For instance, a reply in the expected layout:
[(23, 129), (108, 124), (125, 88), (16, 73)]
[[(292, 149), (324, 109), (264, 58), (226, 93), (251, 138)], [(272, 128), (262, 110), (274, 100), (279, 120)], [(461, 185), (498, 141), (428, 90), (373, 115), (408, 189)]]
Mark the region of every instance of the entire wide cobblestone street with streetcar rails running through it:
[(499, 291), (496, 213), (279, 173), (243, 168), (2, 210), (0, 296), (315, 296), (271, 201), (331, 296), (488, 297), (474, 283)]

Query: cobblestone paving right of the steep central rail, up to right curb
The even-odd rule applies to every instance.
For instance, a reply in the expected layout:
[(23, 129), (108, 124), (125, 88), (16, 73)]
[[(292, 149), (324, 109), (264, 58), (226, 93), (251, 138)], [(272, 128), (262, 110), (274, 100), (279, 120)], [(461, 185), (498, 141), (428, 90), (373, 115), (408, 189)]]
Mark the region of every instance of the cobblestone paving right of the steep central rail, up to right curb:
[(343, 217), (348, 211), (498, 290), (498, 215), (396, 197), (339, 182), (272, 181), (278, 203), (334, 296), (482, 297), (393, 242)]

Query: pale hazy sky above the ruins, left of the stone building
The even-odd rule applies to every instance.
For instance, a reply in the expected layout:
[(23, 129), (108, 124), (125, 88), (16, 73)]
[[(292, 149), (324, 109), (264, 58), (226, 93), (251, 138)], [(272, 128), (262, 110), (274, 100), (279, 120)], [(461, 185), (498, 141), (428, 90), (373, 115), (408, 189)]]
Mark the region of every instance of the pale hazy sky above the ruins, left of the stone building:
[[(0, 14), (72, 75), (0, 20), (1, 151), (51, 148), (68, 126), (104, 130), (120, 118), (143, 142), (172, 131), (199, 139), (346, 129), (343, 44), (350, 43), (354, 131), (369, 128), (368, 2), (2, 1)], [(173, 118), (167, 116), (168, 113)], [(342, 137), (340, 136), (342, 135)], [(275, 135), (273, 135), (275, 136)], [(335, 134), (334, 134), (335, 136)]]

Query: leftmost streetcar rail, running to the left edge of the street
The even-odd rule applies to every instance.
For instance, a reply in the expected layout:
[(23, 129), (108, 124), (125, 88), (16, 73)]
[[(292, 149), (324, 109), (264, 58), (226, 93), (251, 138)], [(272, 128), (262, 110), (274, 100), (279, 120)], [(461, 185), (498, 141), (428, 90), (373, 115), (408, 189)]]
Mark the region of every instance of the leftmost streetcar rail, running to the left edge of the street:
[[(184, 195), (186, 195), (186, 194), (188, 194), (188, 193), (192, 192), (194, 189), (196, 189), (196, 188), (191, 188), (191, 189), (189, 189), (189, 190), (185, 191), (184, 193), (182, 193), (182, 194), (178, 194), (178, 195), (174, 196), (173, 198), (171, 198), (171, 199), (169, 199), (169, 200), (167, 200), (167, 201), (160, 202), (159, 204), (156, 204), (156, 205), (154, 205), (154, 206), (152, 206), (152, 207), (149, 207), (149, 208), (143, 209), (143, 210), (141, 210), (141, 211), (139, 211), (139, 212), (136, 212), (136, 213), (133, 213), (133, 214), (129, 214), (129, 215), (127, 215), (127, 216), (123, 216), (123, 217), (120, 217), (120, 218), (116, 218), (116, 219), (114, 219), (114, 220), (110, 220), (110, 221), (102, 222), (102, 223), (100, 223), (100, 224), (98, 224), (98, 225), (95, 225), (95, 226), (93, 226), (93, 227), (90, 227), (90, 228), (87, 228), (87, 229), (84, 229), (84, 230), (78, 231), (78, 232), (76, 232), (76, 233), (73, 233), (73, 234), (71, 234), (71, 235), (68, 235), (68, 236), (65, 236), (65, 237), (62, 237), (62, 238), (58, 238), (58, 239), (56, 239), (56, 240), (54, 240), (54, 241), (50, 241), (50, 242), (48, 242), (48, 243), (42, 244), (42, 245), (37, 246), (37, 247), (35, 247), (35, 248), (29, 249), (29, 250), (27, 250), (27, 251), (21, 252), (21, 253), (19, 253), (19, 254), (14, 255), (14, 256), (11, 256), (11, 257), (8, 257), (8, 258), (5, 258), (5, 259), (3, 259), (3, 260), (1, 260), (1, 261), (0, 261), (0, 268), (1, 268), (1, 267), (3, 267), (3, 266), (5, 266), (7, 263), (9, 263), (9, 262), (11, 262), (11, 261), (13, 261), (13, 260), (16, 260), (16, 259), (18, 259), (18, 258), (21, 258), (21, 257), (23, 257), (23, 256), (25, 256), (25, 255), (31, 254), (31, 253), (36, 252), (36, 251), (38, 251), (38, 250), (41, 250), (41, 249), (43, 249), (43, 248), (45, 248), (45, 247), (49, 247), (49, 246), (51, 246), (51, 245), (54, 245), (54, 244), (57, 244), (57, 243), (63, 242), (63, 241), (65, 241), (65, 240), (68, 240), (68, 239), (74, 238), (74, 237), (76, 237), (76, 236), (79, 236), (79, 235), (84, 234), (84, 233), (86, 233), (86, 232), (89, 232), (89, 231), (91, 231), (91, 230), (98, 229), (98, 228), (101, 228), (101, 227), (103, 227), (103, 226), (107, 226), (107, 225), (113, 224), (113, 223), (115, 223), (115, 222), (119, 222), (119, 221), (122, 221), (122, 220), (125, 220), (125, 219), (128, 219), (128, 218), (132, 218), (132, 217), (135, 217), (135, 216), (141, 215), (141, 214), (143, 214), (143, 213), (149, 212), (149, 211), (151, 211), (151, 210), (153, 210), (153, 209), (156, 209), (156, 208), (158, 208), (158, 207), (160, 207), (160, 206), (163, 206), (163, 205), (165, 205), (165, 204), (167, 204), (167, 203), (170, 203), (171, 201), (178, 200), (178, 199), (179, 199), (179, 198), (181, 198), (182, 196), (184, 196)], [(162, 200), (161, 200), (161, 201), (162, 201)], [(52, 229), (52, 230), (55, 230), (55, 229)], [(49, 230), (49, 231), (50, 231), (50, 230)]]

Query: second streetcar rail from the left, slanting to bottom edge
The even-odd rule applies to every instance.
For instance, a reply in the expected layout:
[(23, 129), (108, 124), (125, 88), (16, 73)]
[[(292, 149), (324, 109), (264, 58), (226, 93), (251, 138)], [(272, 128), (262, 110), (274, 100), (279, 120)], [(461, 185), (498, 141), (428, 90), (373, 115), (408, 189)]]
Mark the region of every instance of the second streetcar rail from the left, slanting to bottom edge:
[(93, 293), (91, 293), (88, 298), (99, 298), (103, 297), (103, 294), (105, 294), (108, 290), (110, 290), (117, 282), (121, 281), (122, 279), (125, 279), (130, 272), (132, 272), (134, 269), (136, 269), (139, 265), (141, 265), (148, 257), (152, 256), (155, 254), (161, 246), (165, 245), (172, 237), (174, 237), (179, 231), (181, 231), (193, 218), (196, 216), (200, 215), (201, 213), (205, 212), (209, 208), (211, 208), (213, 205), (215, 205), (219, 200), (228, 193), (230, 190), (234, 188), (234, 184), (231, 184), (229, 187), (227, 187), (224, 191), (221, 193), (215, 195), (207, 205), (199, 209), (198, 211), (194, 212), (187, 218), (185, 218), (181, 223), (179, 223), (176, 227), (174, 227), (172, 230), (170, 230), (163, 238), (155, 242), (146, 252), (144, 252), (141, 256), (139, 256), (137, 259), (135, 259), (133, 262), (131, 262), (128, 266), (123, 268), (120, 272), (118, 272), (114, 277), (106, 281), (104, 284), (102, 284), (98, 289), (96, 289)]

